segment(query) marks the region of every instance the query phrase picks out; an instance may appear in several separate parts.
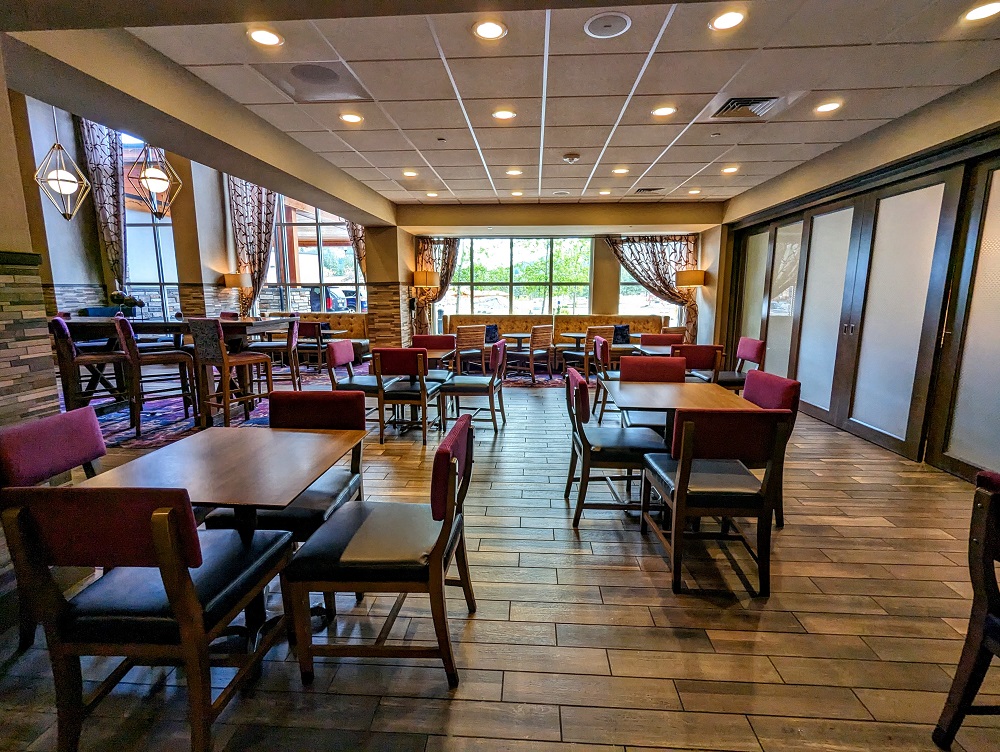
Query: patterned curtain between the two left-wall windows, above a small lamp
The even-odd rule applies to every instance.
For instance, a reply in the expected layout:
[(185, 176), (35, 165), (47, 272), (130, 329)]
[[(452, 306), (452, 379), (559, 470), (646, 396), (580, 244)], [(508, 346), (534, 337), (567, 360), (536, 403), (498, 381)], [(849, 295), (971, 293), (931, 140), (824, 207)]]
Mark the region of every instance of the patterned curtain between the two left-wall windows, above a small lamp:
[(271, 260), (278, 194), (242, 178), (227, 176), (238, 272), (249, 272), (253, 287), (240, 290), (240, 315), (248, 316), (260, 295)]

